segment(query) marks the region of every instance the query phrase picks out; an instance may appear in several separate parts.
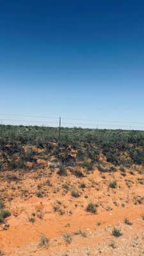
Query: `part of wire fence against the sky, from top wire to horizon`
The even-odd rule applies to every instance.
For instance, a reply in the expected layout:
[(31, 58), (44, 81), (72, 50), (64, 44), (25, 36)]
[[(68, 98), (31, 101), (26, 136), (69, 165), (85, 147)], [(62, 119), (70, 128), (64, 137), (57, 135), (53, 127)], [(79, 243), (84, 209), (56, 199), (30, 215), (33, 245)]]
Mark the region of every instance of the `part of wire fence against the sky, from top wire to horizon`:
[(46, 127), (81, 127), (89, 129), (122, 129), (144, 131), (144, 122), (118, 120), (95, 120), (41, 115), (18, 115), (0, 113), (1, 125), (37, 125)]

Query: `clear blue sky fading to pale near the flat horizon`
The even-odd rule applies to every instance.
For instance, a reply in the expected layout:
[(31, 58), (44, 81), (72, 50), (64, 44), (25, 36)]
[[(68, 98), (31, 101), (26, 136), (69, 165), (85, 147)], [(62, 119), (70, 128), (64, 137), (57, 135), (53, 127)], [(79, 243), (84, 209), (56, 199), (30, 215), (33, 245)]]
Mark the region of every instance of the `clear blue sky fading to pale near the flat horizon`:
[(144, 127), (143, 82), (143, 0), (0, 0), (3, 123)]

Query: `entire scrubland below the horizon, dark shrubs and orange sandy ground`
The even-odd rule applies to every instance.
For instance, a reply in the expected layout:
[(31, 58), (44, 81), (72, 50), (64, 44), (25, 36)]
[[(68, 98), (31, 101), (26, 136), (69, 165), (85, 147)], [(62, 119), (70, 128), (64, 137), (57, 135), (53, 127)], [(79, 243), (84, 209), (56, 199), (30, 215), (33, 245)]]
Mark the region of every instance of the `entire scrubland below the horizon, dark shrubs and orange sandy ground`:
[(0, 255), (144, 255), (144, 132), (0, 125)]

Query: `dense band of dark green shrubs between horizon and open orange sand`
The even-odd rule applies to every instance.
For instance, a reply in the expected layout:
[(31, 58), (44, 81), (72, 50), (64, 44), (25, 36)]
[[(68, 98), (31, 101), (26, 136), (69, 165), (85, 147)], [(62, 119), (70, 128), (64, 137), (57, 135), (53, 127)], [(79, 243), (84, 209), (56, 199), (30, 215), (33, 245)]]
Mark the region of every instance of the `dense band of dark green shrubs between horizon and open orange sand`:
[(67, 175), (68, 166), (79, 178), (84, 176), (81, 167), (92, 172), (93, 166), (100, 172), (116, 172), (121, 166), (125, 175), (131, 164), (144, 166), (144, 132), (75, 127), (61, 128), (60, 138), (54, 127), (0, 125), (0, 171), (39, 168), (51, 157), (60, 176)]

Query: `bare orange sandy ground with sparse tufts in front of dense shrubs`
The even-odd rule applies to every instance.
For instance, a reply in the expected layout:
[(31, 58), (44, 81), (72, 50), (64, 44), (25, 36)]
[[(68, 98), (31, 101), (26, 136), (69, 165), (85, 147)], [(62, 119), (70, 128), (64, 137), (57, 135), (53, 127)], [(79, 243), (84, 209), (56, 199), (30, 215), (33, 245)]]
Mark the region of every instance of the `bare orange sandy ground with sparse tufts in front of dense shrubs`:
[[(144, 255), (144, 175), (126, 173), (1, 172), (0, 199), (11, 216), (0, 224), (0, 255)], [(116, 188), (109, 188), (113, 180)], [(96, 214), (86, 211), (90, 202)], [(114, 227), (122, 236), (112, 235)], [(47, 244), (40, 245), (42, 236)]]

